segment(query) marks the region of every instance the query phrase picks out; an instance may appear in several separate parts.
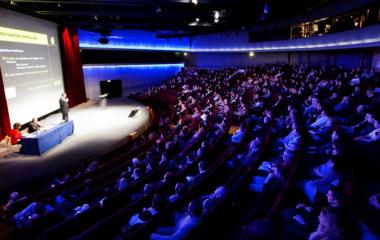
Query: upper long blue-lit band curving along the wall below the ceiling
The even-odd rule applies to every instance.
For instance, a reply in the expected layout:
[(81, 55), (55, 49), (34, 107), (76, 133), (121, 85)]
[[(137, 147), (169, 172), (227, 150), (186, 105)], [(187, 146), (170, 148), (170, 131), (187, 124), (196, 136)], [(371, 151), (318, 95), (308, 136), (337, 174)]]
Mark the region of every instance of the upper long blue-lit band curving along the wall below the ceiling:
[[(109, 44), (98, 43), (99, 34), (79, 31), (80, 47), (91, 49), (157, 50), (178, 52), (275, 52), (329, 50), (380, 46), (380, 24), (363, 29), (302, 39), (248, 43), (244, 34), (237, 39), (220, 34), (195, 38), (157, 38), (154, 32), (115, 31)], [(211, 47), (209, 47), (211, 46)]]

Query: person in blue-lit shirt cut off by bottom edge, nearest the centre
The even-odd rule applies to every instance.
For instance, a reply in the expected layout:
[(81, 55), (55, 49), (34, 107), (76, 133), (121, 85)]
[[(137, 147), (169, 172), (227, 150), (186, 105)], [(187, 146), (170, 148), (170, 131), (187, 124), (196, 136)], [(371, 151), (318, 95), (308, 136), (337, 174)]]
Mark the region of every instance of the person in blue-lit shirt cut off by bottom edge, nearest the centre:
[(151, 240), (182, 239), (199, 224), (202, 215), (202, 206), (198, 201), (191, 201), (188, 206), (188, 214), (179, 219), (173, 227), (159, 227), (157, 233), (150, 235)]

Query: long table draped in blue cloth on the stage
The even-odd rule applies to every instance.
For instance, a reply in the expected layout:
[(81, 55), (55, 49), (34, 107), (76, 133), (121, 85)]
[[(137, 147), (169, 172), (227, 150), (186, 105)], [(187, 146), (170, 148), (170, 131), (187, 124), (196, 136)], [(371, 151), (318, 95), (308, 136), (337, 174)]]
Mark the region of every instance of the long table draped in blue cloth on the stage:
[(20, 153), (25, 155), (42, 155), (60, 144), (74, 132), (73, 121), (61, 123), (49, 130), (35, 132), (21, 139)]

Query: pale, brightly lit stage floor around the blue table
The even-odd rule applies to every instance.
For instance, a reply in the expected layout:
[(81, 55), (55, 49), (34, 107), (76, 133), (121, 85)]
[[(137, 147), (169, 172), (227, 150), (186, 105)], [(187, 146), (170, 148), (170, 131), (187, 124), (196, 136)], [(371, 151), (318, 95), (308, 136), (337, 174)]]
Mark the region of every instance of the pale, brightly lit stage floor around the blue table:
[[(132, 109), (140, 111), (128, 118)], [(54, 114), (41, 121), (49, 125), (61, 121)], [(134, 100), (112, 99), (100, 108), (95, 102), (83, 103), (70, 109), (74, 134), (42, 156), (17, 153), (0, 158), (0, 189), (64, 169), (74, 163), (94, 157), (125, 139), (131, 132), (149, 125), (148, 109)]]

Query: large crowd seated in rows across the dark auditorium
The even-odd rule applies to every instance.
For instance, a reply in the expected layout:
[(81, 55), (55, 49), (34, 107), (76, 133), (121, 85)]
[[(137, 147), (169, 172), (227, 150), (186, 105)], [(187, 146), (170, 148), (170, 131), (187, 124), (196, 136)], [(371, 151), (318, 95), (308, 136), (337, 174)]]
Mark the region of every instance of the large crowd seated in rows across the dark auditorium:
[[(289, 201), (282, 206), (277, 222), (284, 239), (346, 239), (355, 227), (362, 239), (375, 239), (380, 236), (380, 197), (378, 192), (368, 194), (363, 186), (368, 181), (379, 183), (380, 96), (375, 91), (379, 87), (376, 79), (371, 70), (304, 64), (184, 68), (140, 94), (151, 98), (175, 91), (177, 96), (173, 114), (160, 116), (157, 129), (141, 138), (151, 142), (143, 154), (133, 154), (114, 172), (105, 173), (109, 175), (104, 179), (96, 176), (107, 165), (98, 159), (91, 161), (76, 172), (65, 172), (49, 181), (47, 189), (55, 191), (54, 197), (37, 203), (13, 192), (2, 209), (12, 213), (18, 228), (25, 228), (54, 210), (71, 218), (92, 211), (93, 205), (104, 210), (117, 202), (114, 197), (125, 201), (118, 203), (119, 208), (141, 200), (143, 205), (138, 206), (142, 207), (129, 209), (136, 214), (128, 214), (130, 218), (124, 220), (127, 224), (121, 235), (126, 236), (137, 225), (161, 225), (164, 213), (173, 217), (173, 206), (181, 208), (190, 202), (188, 213), (174, 226), (158, 227), (150, 234), (151, 239), (181, 239), (204, 224), (201, 220), (212, 215), (230, 193), (247, 190), (244, 193), (267, 199), (287, 190), (291, 194), (283, 196)], [(237, 130), (228, 134), (231, 124)], [(19, 128), (15, 125), (12, 130), (12, 144), (21, 138)], [(269, 144), (264, 139), (268, 129)], [(214, 165), (215, 152), (229, 148), (236, 151), (220, 165), (222, 170), (214, 171), (219, 167)], [(262, 155), (263, 148), (267, 152)], [(262, 161), (255, 162), (256, 158)], [(225, 185), (234, 173), (245, 170), (250, 174), (236, 179), (247, 178), (249, 185), (233, 189)], [(92, 175), (96, 181), (90, 180)], [(202, 196), (206, 191), (201, 194), (197, 185), (203, 186), (198, 183), (208, 181), (209, 175), (210, 182), (216, 183), (212, 186), (218, 187)], [(79, 186), (71, 187), (68, 183), (76, 179), (80, 179), (76, 182)], [(24, 209), (13, 209), (15, 203), (23, 201)], [(241, 214), (247, 206), (234, 207)], [(267, 226), (275, 229), (275, 223), (267, 220)], [(354, 227), (348, 227), (346, 220)], [(229, 219), (218, 219), (216, 224), (222, 221)]]

